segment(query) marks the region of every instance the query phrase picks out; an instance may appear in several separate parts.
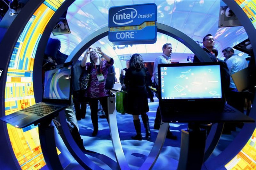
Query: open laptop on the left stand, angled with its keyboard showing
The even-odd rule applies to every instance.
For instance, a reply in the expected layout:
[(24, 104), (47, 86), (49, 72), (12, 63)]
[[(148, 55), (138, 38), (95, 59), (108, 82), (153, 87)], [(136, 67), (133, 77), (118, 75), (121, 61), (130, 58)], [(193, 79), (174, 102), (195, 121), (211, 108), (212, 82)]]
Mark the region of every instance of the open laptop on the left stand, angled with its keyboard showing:
[(17, 128), (24, 128), (56, 116), (55, 113), (70, 104), (71, 68), (72, 66), (64, 66), (45, 71), (42, 102), (1, 117), (0, 120)]

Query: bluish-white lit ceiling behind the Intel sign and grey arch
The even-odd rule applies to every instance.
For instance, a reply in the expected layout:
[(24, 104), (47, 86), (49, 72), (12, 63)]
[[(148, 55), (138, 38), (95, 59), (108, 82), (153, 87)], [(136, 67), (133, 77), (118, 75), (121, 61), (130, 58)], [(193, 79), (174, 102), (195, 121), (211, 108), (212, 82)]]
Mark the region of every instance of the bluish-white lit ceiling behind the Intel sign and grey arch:
[[(157, 5), (157, 22), (165, 24), (179, 31), (182, 31), (194, 41), (200, 42), (203, 36), (210, 33), (216, 39), (215, 47), (221, 51), (227, 46), (233, 46), (247, 39), (247, 34), (243, 27), (218, 28), (218, 17), (220, 0), (77, 0), (68, 9), (66, 19), (69, 24), (71, 34), (53, 36), (61, 40), (61, 52), (70, 54), (71, 51), (91, 33), (108, 25), (108, 10), (113, 6), (133, 5), (141, 3), (155, 3)], [(107, 37), (97, 41), (92, 46), (102, 46), (102, 48), (112, 57), (130, 56), (133, 53), (145, 54), (145, 59), (155, 56), (154, 53), (162, 53), (162, 45), (173, 44), (173, 53), (185, 53), (184, 56), (192, 52), (177, 40), (158, 33), (157, 42), (148, 45), (128, 45), (128, 48), (113, 49), (112, 42)], [(173, 54), (175, 58), (175, 55)]]

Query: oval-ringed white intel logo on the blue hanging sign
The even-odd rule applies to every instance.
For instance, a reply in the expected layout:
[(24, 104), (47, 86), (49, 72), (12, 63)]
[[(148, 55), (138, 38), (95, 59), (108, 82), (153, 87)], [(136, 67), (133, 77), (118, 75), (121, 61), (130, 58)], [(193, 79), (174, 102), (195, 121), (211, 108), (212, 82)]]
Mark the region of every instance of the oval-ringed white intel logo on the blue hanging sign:
[[(125, 25), (133, 22), (133, 18), (137, 16), (137, 10), (134, 8), (121, 9), (113, 16), (113, 22), (117, 25)], [(121, 20), (125, 22), (121, 22)]]

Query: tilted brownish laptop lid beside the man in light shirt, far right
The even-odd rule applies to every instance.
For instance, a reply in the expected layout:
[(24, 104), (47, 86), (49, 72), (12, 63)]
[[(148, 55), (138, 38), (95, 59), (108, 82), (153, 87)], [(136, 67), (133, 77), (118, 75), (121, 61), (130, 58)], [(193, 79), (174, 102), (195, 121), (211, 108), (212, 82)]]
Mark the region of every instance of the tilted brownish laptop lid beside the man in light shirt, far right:
[(249, 67), (238, 71), (231, 75), (238, 92), (249, 90), (251, 82), (251, 74)]

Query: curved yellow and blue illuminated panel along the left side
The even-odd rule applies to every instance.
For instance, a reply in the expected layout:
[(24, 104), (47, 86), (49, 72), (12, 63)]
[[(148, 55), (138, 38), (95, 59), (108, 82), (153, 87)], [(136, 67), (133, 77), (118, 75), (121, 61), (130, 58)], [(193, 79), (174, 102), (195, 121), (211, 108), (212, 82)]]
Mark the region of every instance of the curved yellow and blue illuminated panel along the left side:
[[(38, 43), (55, 11), (65, 0), (46, 0), (34, 12), (11, 55), (6, 87), (5, 114), (11, 114), (35, 104), (33, 66)], [(38, 127), (23, 129), (7, 124), (10, 142), (21, 169), (40, 169), (46, 163), (40, 146)], [(57, 149), (58, 154), (60, 151)]]

